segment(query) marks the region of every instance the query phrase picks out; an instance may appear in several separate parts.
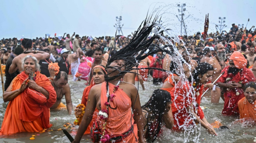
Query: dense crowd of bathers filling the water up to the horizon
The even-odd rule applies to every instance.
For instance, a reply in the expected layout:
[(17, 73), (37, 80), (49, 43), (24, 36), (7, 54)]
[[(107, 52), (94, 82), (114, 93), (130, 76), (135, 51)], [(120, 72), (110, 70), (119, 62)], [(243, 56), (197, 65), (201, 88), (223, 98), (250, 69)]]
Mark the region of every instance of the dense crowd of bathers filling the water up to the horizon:
[[(206, 88), (212, 103), (224, 101), (223, 115), (256, 122), (256, 30), (251, 29), (232, 24), (228, 32), (210, 33), (206, 39), (200, 32), (180, 35), (179, 42), (168, 35), (149, 36), (148, 31), (144, 39), (140, 39), (143, 32), (127, 37), (92, 38), (74, 32), (2, 39), (3, 99), (9, 104), (0, 135), (50, 128), (50, 108), (72, 114), (68, 75), (88, 85), (75, 108), (74, 124), (79, 128), (73, 142), (79, 142), (84, 133), (91, 133), (93, 142), (154, 142), (162, 126), (181, 130), (195, 123), (217, 135), (200, 107)], [(171, 60), (168, 51), (172, 50), (159, 48), (165, 46), (177, 48), (182, 69)], [(149, 76), (162, 87), (141, 106), (135, 81), (144, 90)], [(66, 105), (61, 103), (63, 96)]]

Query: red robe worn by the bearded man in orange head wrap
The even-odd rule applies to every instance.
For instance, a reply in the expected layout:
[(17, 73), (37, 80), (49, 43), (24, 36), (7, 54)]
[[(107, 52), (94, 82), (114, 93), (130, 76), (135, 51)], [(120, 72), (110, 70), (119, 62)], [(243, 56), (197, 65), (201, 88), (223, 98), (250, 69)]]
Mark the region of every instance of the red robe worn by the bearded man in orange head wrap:
[[(250, 69), (244, 67), (240, 72), (236, 75), (228, 74), (229, 66), (225, 67), (221, 72), (225, 72), (216, 83), (230, 83), (230, 82), (242, 82), (245, 84), (247, 82), (255, 82), (255, 78)], [(227, 78), (230, 78), (229, 82), (226, 81)], [(236, 93), (239, 92), (237, 96)], [(237, 102), (244, 97), (244, 92), (241, 88), (238, 88), (237, 91), (234, 89), (229, 89), (224, 93), (224, 108), (222, 110), (223, 115), (237, 115), (238, 105)]]

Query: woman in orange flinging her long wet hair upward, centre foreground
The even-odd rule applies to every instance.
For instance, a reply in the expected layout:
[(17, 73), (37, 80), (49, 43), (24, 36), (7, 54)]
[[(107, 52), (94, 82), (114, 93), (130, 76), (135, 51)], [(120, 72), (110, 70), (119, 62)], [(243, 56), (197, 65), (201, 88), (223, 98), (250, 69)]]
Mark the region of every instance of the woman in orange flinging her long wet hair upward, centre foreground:
[[(121, 78), (124, 74), (133, 70), (133, 67), (137, 67), (139, 61), (150, 54), (157, 52), (173, 54), (173, 49), (166, 49), (169, 45), (161, 47), (152, 44), (153, 40), (161, 38), (160, 35), (154, 35), (147, 40), (153, 29), (159, 30), (159, 33), (163, 32), (160, 31), (159, 24), (156, 22), (158, 16), (154, 19), (151, 18), (152, 16), (144, 20), (127, 46), (111, 55), (111, 58), (108, 59), (106, 66), (108, 74), (105, 75), (106, 82), (91, 88), (88, 95), (89, 102), (73, 142), (80, 142), (82, 135), (91, 122), (95, 108), (99, 110), (99, 114), (91, 130), (93, 142), (145, 142), (143, 133), (144, 120), (138, 90), (133, 84), (122, 82)], [(150, 45), (155, 46), (155, 48), (149, 48)], [(149, 49), (149, 52), (144, 55), (143, 53), (147, 49)], [(135, 57), (139, 52), (140, 54)], [(154, 69), (165, 71), (159, 68)], [(134, 113), (135, 120), (132, 118), (131, 111)]]

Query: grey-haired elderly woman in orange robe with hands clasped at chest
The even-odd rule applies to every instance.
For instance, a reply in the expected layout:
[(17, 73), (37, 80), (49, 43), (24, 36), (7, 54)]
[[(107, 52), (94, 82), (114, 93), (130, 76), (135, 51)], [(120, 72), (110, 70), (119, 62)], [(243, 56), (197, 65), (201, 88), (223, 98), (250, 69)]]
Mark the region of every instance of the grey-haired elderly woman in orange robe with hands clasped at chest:
[(56, 92), (49, 79), (40, 74), (40, 65), (33, 56), (22, 60), (23, 71), (3, 94), (9, 104), (5, 111), (0, 135), (19, 132), (39, 132), (50, 128), (50, 107), (56, 102)]

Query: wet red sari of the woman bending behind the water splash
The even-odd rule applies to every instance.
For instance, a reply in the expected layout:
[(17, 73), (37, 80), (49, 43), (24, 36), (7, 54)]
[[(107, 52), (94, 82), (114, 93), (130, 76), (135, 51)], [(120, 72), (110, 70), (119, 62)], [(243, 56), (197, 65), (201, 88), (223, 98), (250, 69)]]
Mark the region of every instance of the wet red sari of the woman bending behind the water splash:
[[(192, 124), (193, 119), (191, 118), (188, 110), (186, 109), (192, 103), (192, 95), (191, 93), (189, 93), (189, 88), (191, 87), (191, 83), (182, 83), (181, 81), (179, 81), (170, 92), (172, 98), (172, 114), (174, 116), (174, 127), (172, 129), (174, 130), (178, 130), (179, 126), (183, 124), (185, 124), (185, 126), (189, 126)], [(195, 91), (199, 92), (199, 96), (195, 95), (197, 104), (196, 107), (194, 106), (193, 108), (194, 112), (197, 113), (199, 118), (203, 119), (204, 113), (203, 110), (200, 108), (203, 85), (198, 85), (196, 89), (199, 89)]]

